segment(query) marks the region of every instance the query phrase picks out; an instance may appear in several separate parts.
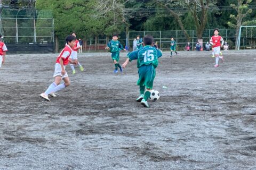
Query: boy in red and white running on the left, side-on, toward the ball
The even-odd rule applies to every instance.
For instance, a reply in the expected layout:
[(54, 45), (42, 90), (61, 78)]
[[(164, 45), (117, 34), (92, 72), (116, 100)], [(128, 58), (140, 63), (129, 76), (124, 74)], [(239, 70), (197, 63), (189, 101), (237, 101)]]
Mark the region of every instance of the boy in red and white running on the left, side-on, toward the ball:
[[(60, 55), (57, 57), (56, 64), (55, 64), (55, 71), (53, 74), (53, 77), (55, 78), (55, 81), (47, 88), (45, 92), (43, 92), (40, 97), (44, 98), (47, 101), (50, 101), (48, 98), (48, 95), (51, 95), (52, 97), (55, 96), (55, 92), (59, 90), (63, 90), (66, 87), (70, 85), (70, 81), (68, 78), (68, 74), (65, 70), (66, 65), (68, 65), (68, 62), (72, 64), (77, 64), (76, 61), (71, 60), (69, 56), (72, 52), (72, 47), (76, 44), (76, 37), (74, 36), (67, 36), (66, 37), (66, 47), (62, 49)], [(64, 83), (60, 84), (61, 79), (63, 79)]]

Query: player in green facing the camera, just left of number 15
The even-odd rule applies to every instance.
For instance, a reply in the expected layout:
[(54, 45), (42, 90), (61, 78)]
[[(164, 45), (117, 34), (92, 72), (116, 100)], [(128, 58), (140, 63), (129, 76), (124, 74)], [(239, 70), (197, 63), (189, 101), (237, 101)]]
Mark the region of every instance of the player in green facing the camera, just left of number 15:
[(111, 57), (112, 57), (113, 63), (115, 64), (114, 73), (118, 72), (117, 67), (119, 67), (120, 72), (122, 73), (123, 69), (119, 64), (119, 51), (122, 49), (126, 51), (126, 49), (123, 48), (122, 44), (117, 39), (118, 39), (118, 35), (114, 34), (112, 36), (112, 40), (110, 40), (108, 43), (107, 49), (110, 49)]

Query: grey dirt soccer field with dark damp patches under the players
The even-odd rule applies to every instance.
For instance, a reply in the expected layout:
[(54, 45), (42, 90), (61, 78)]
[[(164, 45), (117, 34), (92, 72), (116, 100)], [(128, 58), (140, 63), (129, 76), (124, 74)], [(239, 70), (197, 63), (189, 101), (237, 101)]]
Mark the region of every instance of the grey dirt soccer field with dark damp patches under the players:
[[(121, 63), (125, 61), (121, 54)], [(51, 102), (57, 54), (9, 55), (0, 70), (0, 169), (256, 169), (256, 50), (159, 59), (144, 108), (136, 62), (79, 54), (85, 71)], [(166, 88), (162, 88), (166, 86)]]

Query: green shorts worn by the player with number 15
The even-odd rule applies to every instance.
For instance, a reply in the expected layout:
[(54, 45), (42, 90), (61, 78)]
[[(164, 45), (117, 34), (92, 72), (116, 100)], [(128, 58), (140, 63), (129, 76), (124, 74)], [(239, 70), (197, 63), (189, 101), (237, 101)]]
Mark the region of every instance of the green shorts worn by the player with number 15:
[(139, 68), (139, 86), (146, 86), (147, 89), (153, 89), (153, 82), (156, 77), (156, 70), (153, 65), (142, 65)]

